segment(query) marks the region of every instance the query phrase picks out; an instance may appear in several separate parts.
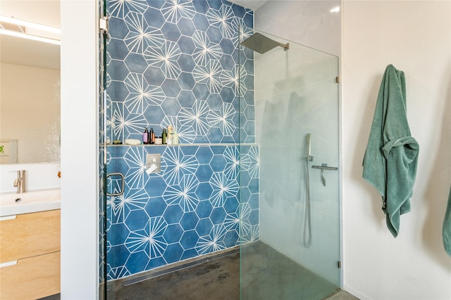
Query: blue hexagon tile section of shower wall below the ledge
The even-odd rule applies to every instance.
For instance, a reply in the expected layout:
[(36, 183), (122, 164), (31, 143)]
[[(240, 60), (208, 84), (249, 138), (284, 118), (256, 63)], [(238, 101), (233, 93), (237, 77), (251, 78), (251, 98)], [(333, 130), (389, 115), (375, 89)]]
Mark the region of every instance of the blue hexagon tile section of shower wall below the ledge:
[[(161, 172), (145, 173), (148, 153)], [(121, 278), (258, 239), (257, 145), (111, 146), (108, 277)], [(240, 159), (242, 164), (240, 165)], [(109, 177), (109, 193), (119, 189)], [(240, 203), (241, 197), (241, 203)]]

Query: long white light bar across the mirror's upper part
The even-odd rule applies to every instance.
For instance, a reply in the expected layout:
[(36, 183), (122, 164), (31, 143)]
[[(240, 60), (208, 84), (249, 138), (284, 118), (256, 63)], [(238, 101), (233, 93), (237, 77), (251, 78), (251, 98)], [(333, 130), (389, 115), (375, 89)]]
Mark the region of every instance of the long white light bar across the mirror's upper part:
[(41, 25), (16, 18), (0, 15), (0, 34), (13, 37), (43, 41), (50, 44), (61, 44), (61, 30), (56, 27)]

